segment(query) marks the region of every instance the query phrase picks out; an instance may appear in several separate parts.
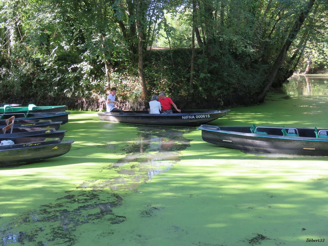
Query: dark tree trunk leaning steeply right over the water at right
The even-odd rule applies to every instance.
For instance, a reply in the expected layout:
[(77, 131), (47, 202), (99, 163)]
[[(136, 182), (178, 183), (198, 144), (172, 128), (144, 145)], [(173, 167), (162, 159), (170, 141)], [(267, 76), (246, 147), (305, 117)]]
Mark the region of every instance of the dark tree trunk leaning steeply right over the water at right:
[(268, 82), (267, 82), (266, 86), (264, 87), (263, 91), (257, 96), (256, 102), (263, 101), (266, 93), (270, 89), (272, 83), (275, 81), (277, 72), (285, 60), (286, 53), (287, 53), (289, 47), (291, 46), (292, 42), (296, 38), (296, 35), (297, 35), (298, 31), (300, 30), (305, 18), (308, 16), (310, 10), (312, 9), (314, 2), (315, 2), (315, 0), (309, 0), (305, 9), (299, 14), (292, 30), (289, 32), (289, 35), (288, 35), (288, 38), (287, 38), (285, 44), (283, 45), (274, 65), (271, 68), (271, 71), (267, 77)]

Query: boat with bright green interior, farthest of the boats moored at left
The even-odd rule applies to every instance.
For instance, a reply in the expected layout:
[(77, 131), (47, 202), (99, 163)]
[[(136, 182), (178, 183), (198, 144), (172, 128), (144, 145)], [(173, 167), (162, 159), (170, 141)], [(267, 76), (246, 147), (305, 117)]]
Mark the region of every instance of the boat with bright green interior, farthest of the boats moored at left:
[(1, 113), (47, 113), (47, 112), (64, 112), (66, 111), (66, 105), (60, 106), (35, 106), (34, 104), (30, 104), (27, 107), (16, 107), (10, 105), (4, 105), (0, 107)]

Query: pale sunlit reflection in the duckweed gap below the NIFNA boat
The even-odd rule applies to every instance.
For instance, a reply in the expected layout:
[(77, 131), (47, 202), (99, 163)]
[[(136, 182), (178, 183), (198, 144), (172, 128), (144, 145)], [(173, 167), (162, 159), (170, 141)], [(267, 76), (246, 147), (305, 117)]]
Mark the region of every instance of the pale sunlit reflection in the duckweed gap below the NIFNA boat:
[(123, 151), (127, 155), (103, 169), (115, 169), (119, 177), (108, 180), (84, 181), (78, 188), (93, 190), (110, 188), (112, 190), (134, 190), (138, 192), (138, 184), (147, 182), (154, 175), (167, 171), (179, 161), (178, 151), (189, 146), (190, 139), (182, 135), (193, 128), (139, 126), (139, 133), (133, 143)]

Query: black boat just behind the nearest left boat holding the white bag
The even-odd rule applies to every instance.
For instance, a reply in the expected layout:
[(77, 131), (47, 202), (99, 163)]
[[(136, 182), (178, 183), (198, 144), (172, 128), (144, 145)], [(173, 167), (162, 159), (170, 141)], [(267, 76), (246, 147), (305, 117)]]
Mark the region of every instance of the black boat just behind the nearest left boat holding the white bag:
[[(4, 129), (2, 129), (4, 130)], [(15, 138), (15, 137), (55, 137), (63, 139), (66, 130), (56, 131), (54, 128), (13, 128), (12, 133), (0, 134), (0, 138)]]

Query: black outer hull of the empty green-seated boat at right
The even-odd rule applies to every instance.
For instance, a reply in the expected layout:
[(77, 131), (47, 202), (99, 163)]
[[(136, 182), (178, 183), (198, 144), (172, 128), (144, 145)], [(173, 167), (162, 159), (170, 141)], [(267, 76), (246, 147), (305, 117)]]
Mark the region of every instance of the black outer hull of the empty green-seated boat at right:
[(328, 139), (199, 129), (205, 142), (220, 147), (280, 154), (328, 155)]

